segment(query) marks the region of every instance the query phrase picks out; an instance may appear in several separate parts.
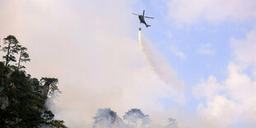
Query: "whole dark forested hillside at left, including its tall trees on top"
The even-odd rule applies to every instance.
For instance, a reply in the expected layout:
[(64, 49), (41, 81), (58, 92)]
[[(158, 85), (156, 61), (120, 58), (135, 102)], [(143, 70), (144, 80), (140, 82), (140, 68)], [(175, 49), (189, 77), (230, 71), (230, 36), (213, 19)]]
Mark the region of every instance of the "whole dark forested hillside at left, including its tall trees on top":
[(32, 78), (24, 64), (30, 61), (26, 47), (15, 36), (1, 44), (0, 127), (66, 127), (45, 107), (51, 93), (59, 92), (57, 78)]

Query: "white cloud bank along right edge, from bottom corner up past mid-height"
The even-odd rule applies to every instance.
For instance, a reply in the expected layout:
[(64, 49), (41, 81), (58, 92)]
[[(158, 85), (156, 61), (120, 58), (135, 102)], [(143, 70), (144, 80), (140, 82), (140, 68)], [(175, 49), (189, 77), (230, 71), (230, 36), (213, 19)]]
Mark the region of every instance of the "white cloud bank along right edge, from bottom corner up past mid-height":
[(255, 36), (254, 28), (246, 40), (231, 40), (235, 60), (230, 61), (224, 81), (210, 76), (194, 88), (195, 96), (206, 98), (206, 104), (201, 102), (197, 109), (206, 126), (235, 127), (237, 121), (256, 126), (256, 76), (244, 73), (249, 67), (255, 73)]

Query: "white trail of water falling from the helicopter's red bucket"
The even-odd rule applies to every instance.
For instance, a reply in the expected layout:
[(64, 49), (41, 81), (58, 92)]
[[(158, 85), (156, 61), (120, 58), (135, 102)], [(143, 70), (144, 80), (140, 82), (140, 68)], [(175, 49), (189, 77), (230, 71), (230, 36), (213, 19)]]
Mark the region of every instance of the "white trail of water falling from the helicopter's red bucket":
[(164, 59), (164, 57), (160, 55), (157, 50), (154, 50), (148, 41), (143, 38), (141, 31), (139, 31), (139, 40), (140, 50), (144, 53), (145, 59), (154, 69), (154, 73), (156, 73), (165, 84), (172, 86), (178, 91), (182, 91), (183, 82), (177, 79), (177, 74), (173, 69), (170, 68), (170, 65), (166, 59)]

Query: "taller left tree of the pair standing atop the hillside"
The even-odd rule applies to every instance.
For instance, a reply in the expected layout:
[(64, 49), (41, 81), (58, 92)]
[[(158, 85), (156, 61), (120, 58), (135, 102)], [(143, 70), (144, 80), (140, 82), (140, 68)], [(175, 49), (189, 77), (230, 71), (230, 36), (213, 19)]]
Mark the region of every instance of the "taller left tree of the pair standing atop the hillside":
[(6, 45), (2, 48), (4, 52), (7, 52), (7, 55), (4, 55), (2, 58), (6, 60), (5, 66), (9, 64), (10, 61), (16, 62), (16, 58), (14, 54), (18, 53), (19, 50), (19, 41), (16, 39), (15, 36), (7, 36), (3, 39), (3, 44)]

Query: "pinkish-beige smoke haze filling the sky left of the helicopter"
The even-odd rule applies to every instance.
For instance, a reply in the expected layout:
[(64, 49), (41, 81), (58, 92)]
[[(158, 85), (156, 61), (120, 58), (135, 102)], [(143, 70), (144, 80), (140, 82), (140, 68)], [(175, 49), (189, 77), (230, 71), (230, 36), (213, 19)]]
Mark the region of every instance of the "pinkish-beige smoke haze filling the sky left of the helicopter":
[(0, 1), (0, 37), (14, 35), (27, 46), (32, 77), (59, 78), (62, 93), (49, 107), (66, 126), (92, 126), (97, 109), (109, 107), (118, 115), (140, 108), (153, 123), (166, 124), (173, 113), (160, 99), (183, 97), (140, 53), (134, 17), (124, 15), (133, 2)]

